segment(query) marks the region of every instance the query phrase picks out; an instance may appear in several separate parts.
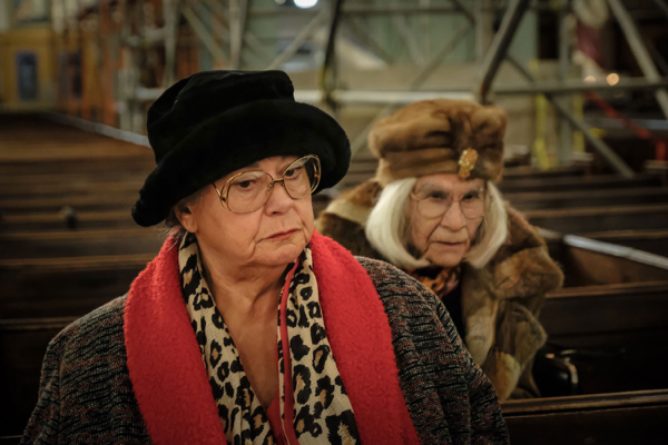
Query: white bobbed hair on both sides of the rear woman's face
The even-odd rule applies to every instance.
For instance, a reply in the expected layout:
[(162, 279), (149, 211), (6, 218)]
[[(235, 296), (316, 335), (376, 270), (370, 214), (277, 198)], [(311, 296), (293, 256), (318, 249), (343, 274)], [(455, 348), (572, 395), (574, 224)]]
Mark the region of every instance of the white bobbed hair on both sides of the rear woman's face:
[[(383, 257), (402, 269), (429, 266), (426, 258), (415, 258), (406, 248), (407, 215), (405, 211), (418, 178), (389, 184), (366, 219), (366, 239)], [(497, 187), (485, 181), (484, 218), (464, 260), (481, 269), (494, 257), (508, 237), (508, 214)]]

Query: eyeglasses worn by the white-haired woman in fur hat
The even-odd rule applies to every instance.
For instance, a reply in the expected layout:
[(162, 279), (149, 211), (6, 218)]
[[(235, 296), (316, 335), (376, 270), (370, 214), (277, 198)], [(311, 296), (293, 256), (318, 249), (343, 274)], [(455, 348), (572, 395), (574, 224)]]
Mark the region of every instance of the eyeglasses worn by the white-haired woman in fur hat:
[(429, 219), (442, 217), (454, 202), (459, 202), (462, 215), (468, 219), (484, 215), (483, 190), (480, 189), (469, 191), (461, 199), (454, 199), (452, 194), (442, 190), (411, 194), (411, 199), (418, 202), (418, 212)]

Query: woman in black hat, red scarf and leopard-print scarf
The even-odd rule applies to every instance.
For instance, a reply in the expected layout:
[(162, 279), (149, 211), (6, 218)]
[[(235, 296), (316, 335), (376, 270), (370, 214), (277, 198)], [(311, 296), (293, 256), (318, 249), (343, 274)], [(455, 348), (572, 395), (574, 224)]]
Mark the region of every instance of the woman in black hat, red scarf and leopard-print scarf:
[(51, 342), (22, 443), (508, 443), (442, 304), (314, 233), (350, 146), (285, 73), (184, 79), (148, 135), (132, 217), (173, 234)]

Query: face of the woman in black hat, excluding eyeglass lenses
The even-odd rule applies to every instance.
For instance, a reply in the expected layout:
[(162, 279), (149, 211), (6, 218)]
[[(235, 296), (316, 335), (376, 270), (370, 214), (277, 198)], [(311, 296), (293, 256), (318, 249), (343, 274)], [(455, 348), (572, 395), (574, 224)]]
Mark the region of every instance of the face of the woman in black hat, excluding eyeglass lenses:
[[(225, 197), (223, 187), (227, 179), (247, 170), (262, 170), (279, 179), (296, 159), (294, 156), (263, 159), (220, 178), (216, 187)], [(222, 206), (216, 189), (208, 186), (189, 212), (179, 212), (179, 220), (197, 236), (203, 251), (234, 267), (284, 267), (304, 250), (314, 229), (311, 195), (294, 200), (281, 182), (274, 185), (264, 206), (247, 214), (229, 211)]]

